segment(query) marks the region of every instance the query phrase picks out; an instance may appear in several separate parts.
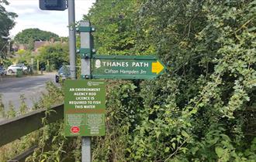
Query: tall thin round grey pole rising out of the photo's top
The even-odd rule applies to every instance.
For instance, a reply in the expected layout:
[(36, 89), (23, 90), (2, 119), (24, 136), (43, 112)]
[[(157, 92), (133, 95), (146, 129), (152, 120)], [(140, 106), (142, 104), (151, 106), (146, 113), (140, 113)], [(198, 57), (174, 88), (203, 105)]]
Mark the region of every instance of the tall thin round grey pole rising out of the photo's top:
[(76, 79), (75, 72), (75, 19), (74, 19), (74, 0), (67, 0), (68, 6), (68, 27), (69, 27), (69, 60), (71, 69), (71, 79)]

